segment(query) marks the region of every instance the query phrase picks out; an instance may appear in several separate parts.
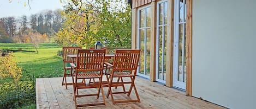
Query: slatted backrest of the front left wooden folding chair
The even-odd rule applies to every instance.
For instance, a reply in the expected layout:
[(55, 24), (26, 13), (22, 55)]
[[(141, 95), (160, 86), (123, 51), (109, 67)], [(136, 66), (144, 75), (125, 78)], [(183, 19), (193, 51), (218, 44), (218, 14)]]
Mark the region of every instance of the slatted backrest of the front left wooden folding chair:
[(105, 49), (78, 49), (76, 58), (78, 72), (102, 71), (104, 68)]

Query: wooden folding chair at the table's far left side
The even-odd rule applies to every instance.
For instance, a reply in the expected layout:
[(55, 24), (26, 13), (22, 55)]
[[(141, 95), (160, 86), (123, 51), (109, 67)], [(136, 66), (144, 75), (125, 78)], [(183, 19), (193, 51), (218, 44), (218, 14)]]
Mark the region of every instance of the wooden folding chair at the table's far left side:
[[(68, 54), (77, 54), (78, 53), (78, 49), (81, 49), (82, 47), (62, 47), (62, 55), (63, 55), (63, 68), (64, 68), (64, 72), (63, 72), (63, 78), (62, 78), (62, 86), (66, 85), (66, 89), (68, 89), (67, 85), (72, 85), (72, 83), (67, 83), (67, 78), (66, 76), (71, 76), (71, 73), (66, 73), (67, 70), (71, 71), (71, 67), (67, 67), (66, 63), (72, 63), (72, 59), (70, 57), (68, 57)], [(65, 79), (65, 83), (64, 83), (64, 79)]]

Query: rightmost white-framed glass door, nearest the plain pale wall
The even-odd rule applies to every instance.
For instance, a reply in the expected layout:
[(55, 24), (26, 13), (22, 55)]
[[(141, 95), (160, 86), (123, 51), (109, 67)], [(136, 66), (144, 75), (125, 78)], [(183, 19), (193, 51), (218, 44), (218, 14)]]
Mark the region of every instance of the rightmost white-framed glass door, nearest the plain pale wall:
[(175, 0), (173, 86), (186, 89), (186, 0)]

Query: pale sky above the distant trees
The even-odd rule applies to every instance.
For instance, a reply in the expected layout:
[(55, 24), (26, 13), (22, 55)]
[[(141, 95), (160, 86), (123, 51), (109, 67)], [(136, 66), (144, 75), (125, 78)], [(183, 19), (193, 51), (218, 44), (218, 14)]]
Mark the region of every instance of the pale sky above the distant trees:
[(21, 17), (22, 15), (30, 16), (31, 14), (37, 14), (38, 12), (45, 9), (63, 9), (63, 3), (60, 0), (30, 0), (29, 6), (24, 6), (24, 3), (27, 0), (12, 0), (9, 3), (9, 0), (0, 0), (0, 18), (2, 17)]

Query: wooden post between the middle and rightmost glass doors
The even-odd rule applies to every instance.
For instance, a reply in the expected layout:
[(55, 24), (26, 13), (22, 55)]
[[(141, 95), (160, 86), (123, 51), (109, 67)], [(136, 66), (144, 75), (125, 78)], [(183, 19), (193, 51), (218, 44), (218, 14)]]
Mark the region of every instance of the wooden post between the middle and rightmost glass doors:
[(166, 86), (172, 87), (174, 60), (174, 0), (168, 1), (166, 36)]

